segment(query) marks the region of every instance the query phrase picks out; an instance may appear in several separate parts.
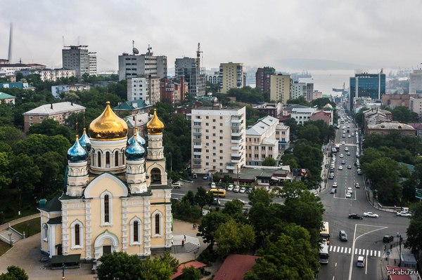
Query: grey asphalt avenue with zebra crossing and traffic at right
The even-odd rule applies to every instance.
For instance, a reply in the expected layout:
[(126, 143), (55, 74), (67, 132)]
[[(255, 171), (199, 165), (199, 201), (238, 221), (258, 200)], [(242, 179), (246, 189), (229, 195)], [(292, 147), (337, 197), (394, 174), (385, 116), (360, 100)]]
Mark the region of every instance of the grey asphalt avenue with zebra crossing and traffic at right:
[[(322, 265), (319, 279), (382, 279), (380, 262), (381, 258), (385, 258), (383, 236), (387, 234), (396, 236), (399, 232), (405, 238), (409, 219), (396, 217), (395, 213), (378, 211), (369, 204), (366, 199), (364, 180), (362, 175), (357, 175), (357, 168), (354, 166), (356, 137), (347, 137), (352, 131), (354, 132), (355, 126), (352, 122), (341, 124), (342, 128), (343, 126), (346, 126), (345, 138), (342, 138), (341, 128), (337, 130), (335, 137), (335, 143), (345, 141), (345, 145), (340, 145), (340, 152), (336, 156), (335, 177), (333, 180), (328, 180), (328, 187), (319, 194), (326, 209), (324, 220), (329, 222), (331, 233), (329, 262), (327, 265)], [(350, 133), (347, 133), (347, 126), (350, 126)], [(349, 149), (350, 156), (346, 155), (345, 147)], [(340, 158), (340, 154), (343, 154), (343, 158)], [(343, 170), (338, 170), (338, 166), (342, 165), (342, 159), (345, 159)], [(352, 169), (346, 168), (349, 164)], [(338, 183), (336, 194), (330, 194), (333, 182)], [(354, 187), (356, 182), (359, 182), (361, 188)], [(347, 187), (353, 189), (350, 199), (345, 197)], [(363, 218), (363, 220), (348, 218), (350, 213), (363, 216), (364, 212), (368, 211), (378, 214), (379, 218)], [(348, 241), (340, 241), (338, 238), (340, 230), (345, 230)], [(395, 244), (395, 241), (392, 244)], [(366, 259), (364, 267), (356, 265), (359, 255), (363, 255)]]

